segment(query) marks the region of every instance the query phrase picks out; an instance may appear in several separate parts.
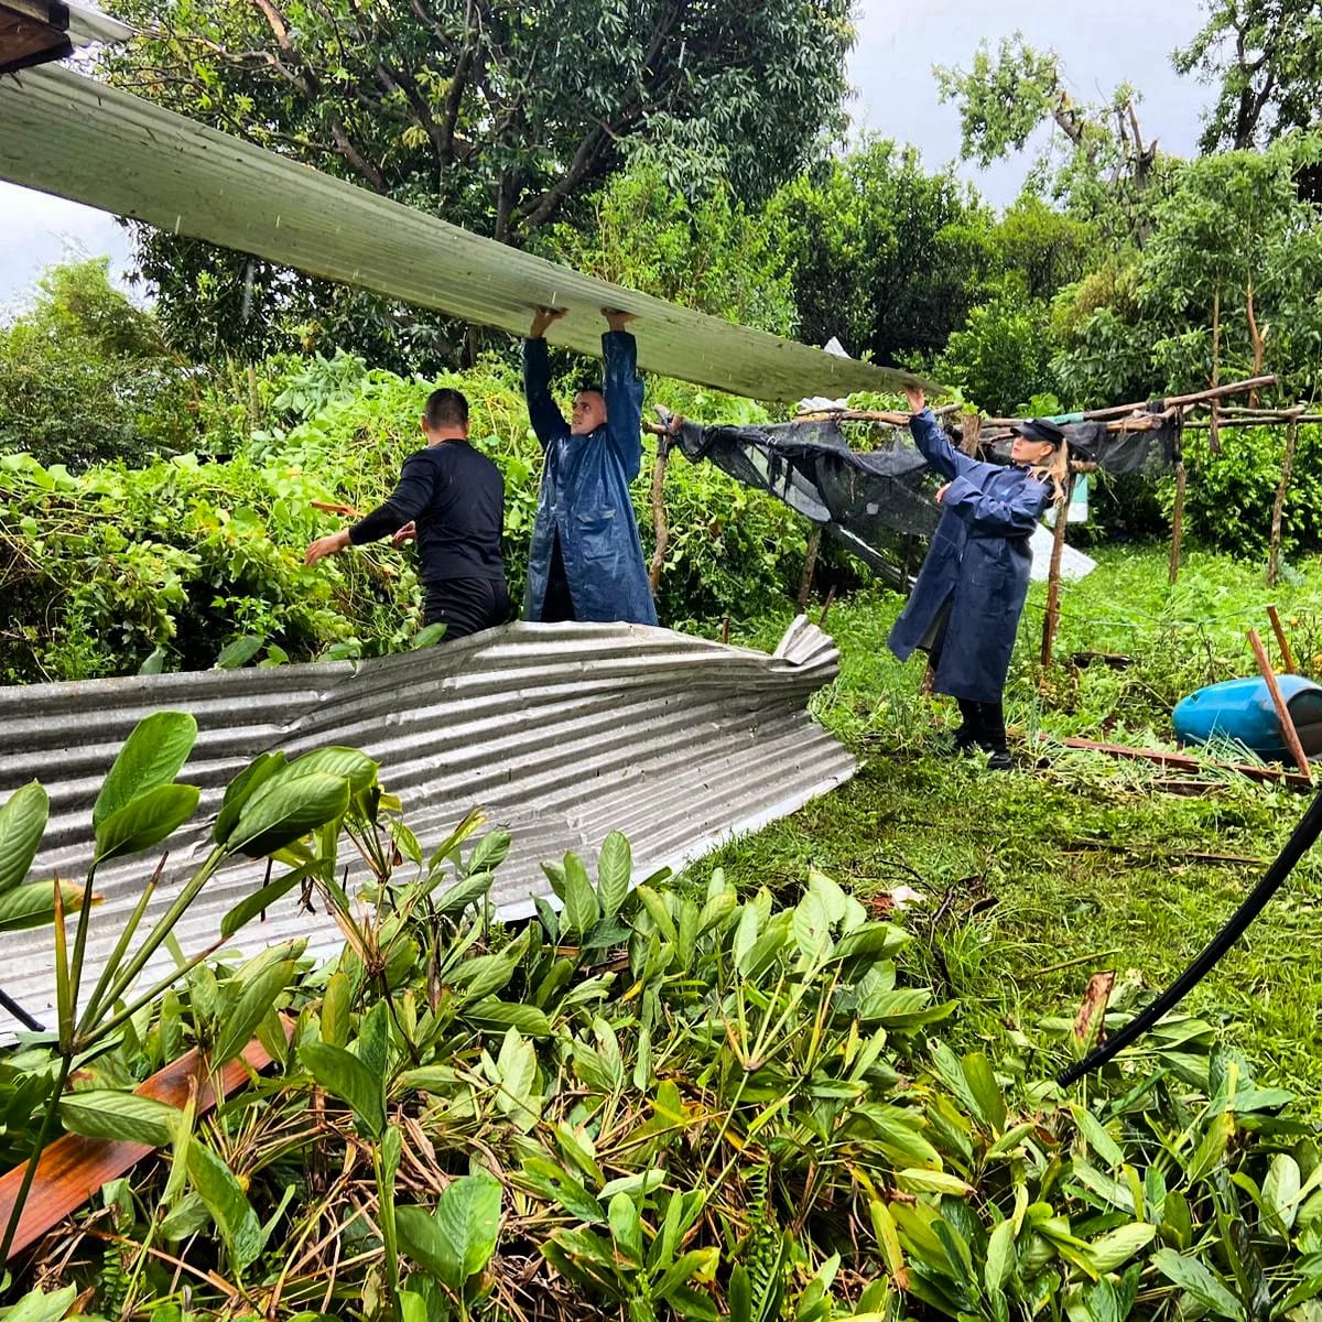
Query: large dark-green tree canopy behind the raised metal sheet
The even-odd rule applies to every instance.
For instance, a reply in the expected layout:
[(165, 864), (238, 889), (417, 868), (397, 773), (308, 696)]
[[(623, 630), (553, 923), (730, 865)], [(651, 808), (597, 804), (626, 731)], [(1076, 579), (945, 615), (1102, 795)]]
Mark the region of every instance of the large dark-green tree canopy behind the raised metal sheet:
[[(768, 197), (842, 123), (847, 0), (118, 0), (141, 32), (120, 86), (505, 243), (582, 217), (625, 159), (674, 188)], [(452, 328), (204, 245), (140, 234), (185, 340), (271, 348), (279, 327), (386, 350)], [(201, 300), (205, 316), (198, 317)]]

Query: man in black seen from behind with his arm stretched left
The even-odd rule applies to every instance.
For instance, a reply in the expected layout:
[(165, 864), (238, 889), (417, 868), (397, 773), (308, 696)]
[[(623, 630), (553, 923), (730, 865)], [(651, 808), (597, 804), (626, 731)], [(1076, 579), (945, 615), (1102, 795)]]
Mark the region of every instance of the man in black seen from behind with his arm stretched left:
[(468, 401), (434, 390), (422, 418), (427, 448), (405, 460), (399, 485), (353, 527), (319, 537), (304, 563), (390, 537), (418, 538), (427, 590), (423, 624), (444, 624), (443, 642), (494, 628), (509, 619), (501, 561), (505, 483), (500, 469), (468, 443)]

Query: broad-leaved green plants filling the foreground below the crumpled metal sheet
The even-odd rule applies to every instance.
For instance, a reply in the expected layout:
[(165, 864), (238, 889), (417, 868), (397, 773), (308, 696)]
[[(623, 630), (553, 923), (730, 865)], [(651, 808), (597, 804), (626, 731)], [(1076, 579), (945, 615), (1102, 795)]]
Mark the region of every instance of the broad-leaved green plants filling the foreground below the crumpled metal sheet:
[[(1047, 1077), (1136, 1013), (1137, 977), (1091, 1030), (1017, 1017), (1018, 1046), (961, 1055), (964, 1006), (914, 985), (910, 933), (821, 873), (788, 898), (720, 870), (631, 891), (612, 834), (595, 879), (547, 863), (559, 908), (513, 931), (489, 908), (510, 839), (465, 851), (479, 826), (426, 846), (385, 809), (350, 826), (370, 916), (334, 832), (238, 907), (301, 882), (345, 949), (303, 976), (296, 947), (185, 973), (86, 1060), (95, 1108), (74, 1093), (63, 1124), (114, 1113), (167, 1150), (106, 1195), (118, 1272), (66, 1233), (24, 1284), (111, 1315), (127, 1261), (160, 1315), (164, 1244), (202, 1319), (276, 1281), (272, 1318), (1315, 1315), (1322, 1151), (1289, 1092), (1182, 1014), (1087, 1092)], [(214, 1117), (126, 1096), (167, 1042), (214, 1060), (249, 1032), (272, 1073)], [(16, 1096), (49, 1056), (8, 1066)]]

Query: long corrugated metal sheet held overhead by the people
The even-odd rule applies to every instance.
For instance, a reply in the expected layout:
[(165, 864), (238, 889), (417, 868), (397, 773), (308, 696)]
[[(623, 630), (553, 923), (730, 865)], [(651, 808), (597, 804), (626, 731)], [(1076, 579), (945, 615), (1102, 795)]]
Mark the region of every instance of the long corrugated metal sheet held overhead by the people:
[(580, 353), (623, 308), (644, 369), (756, 399), (917, 379), (579, 275), (56, 66), (0, 79), (0, 178), (512, 334), (567, 308), (549, 338)]

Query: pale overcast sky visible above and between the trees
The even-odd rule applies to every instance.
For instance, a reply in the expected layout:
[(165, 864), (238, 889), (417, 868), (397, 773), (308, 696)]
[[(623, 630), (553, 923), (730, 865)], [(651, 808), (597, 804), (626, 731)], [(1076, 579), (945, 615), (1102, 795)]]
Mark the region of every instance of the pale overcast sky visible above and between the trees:
[[(531, 0), (535, 3), (535, 0)], [(1181, 78), (1170, 53), (1202, 24), (1200, 0), (861, 0), (850, 77), (850, 112), (859, 130), (910, 141), (928, 167), (954, 160), (960, 119), (943, 106), (932, 65), (966, 65), (986, 37), (995, 46), (1021, 29), (1030, 44), (1055, 48), (1075, 97), (1097, 100), (1128, 81), (1144, 95), (1141, 123), (1166, 151), (1192, 152), (1208, 90)], [(997, 205), (1013, 201), (1029, 160), (981, 173), (960, 171)], [(108, 215), (0, 182), (0, 303), (22, 299), (42, 267), (69, 256), (128, 260), (124, 230)]]

